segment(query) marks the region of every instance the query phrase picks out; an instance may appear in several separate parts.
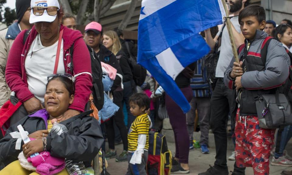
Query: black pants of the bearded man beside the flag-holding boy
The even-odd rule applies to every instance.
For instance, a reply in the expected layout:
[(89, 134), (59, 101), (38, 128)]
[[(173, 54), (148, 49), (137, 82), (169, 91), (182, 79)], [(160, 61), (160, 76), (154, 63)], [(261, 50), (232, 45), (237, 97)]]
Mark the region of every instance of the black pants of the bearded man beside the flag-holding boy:
[[(219, 78), (216, 83), (215, 90), (211, 96), (211, 117), (210, 127), (214, 133), (216, 146), (216, 161), (214, 163), (217, 169), (228, 169), (227, 167), (227, 120), (228, 114), (234, 118), (235, 111), (235, 97), (232, 91), (225, 86), (223, 78)], [(234, 120), (231, 119), (231, 125), (235, 125)], [(232, 126), (234, 128), (234, 126)], [(238, 168), (234, 164), (234, 172), (244, 174), (245, 168)]]

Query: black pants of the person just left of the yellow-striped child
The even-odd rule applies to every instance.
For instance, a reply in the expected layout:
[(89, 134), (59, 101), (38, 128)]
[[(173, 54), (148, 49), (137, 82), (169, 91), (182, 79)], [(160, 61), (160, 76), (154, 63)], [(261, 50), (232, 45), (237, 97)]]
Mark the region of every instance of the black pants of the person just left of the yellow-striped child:
[(113, 127), (113, 122), (120, 130), (121, 138), (123, 141), (123, 149), (128, 150), (128, 140), (127, 140), (127, 128), (124, 123), (123, 115), (123, 91), (113, 92), (113, 102), (120, 107), (118, 112), (116, 112), (113, 117), (105, 122), (106, 123), (106, 133), (109, 141), (109, 149), (115, 149), (115, 131)]

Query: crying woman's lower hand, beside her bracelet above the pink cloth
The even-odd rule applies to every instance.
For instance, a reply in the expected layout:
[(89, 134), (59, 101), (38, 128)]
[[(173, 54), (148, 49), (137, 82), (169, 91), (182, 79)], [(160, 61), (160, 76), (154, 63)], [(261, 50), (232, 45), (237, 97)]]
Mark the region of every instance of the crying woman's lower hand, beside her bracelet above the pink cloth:
[(26, 158), (34, 153), (39, 153), (43, 151), (43, 141), (42, 139), (32, 140), (22, 146), (23, 154)]

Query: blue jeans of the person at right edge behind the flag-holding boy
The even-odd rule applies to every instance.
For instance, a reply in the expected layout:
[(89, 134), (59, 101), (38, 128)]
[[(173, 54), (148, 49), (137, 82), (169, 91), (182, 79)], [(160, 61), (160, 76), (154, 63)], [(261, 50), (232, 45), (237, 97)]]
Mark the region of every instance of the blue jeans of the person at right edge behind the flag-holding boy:
[[(277, 137), (278, 136), (279, 136), (279, 131), (277, 133)], [(280, 150), (279, 150), (279, 153), (275, 152), (275, 158), (279, 158), (279, 157), (283, 156), (284, 149), (285, 149), (287, 143), (289, 142), (289, 140), (291, 139), (291, 137), (292, 137), (292, 125), (288, 125), (284, 128), (284, 130), (282, 132), (281, 142), (280, 142)], [(276, 138), (276, 140), (277, 140), (277, 138)]]

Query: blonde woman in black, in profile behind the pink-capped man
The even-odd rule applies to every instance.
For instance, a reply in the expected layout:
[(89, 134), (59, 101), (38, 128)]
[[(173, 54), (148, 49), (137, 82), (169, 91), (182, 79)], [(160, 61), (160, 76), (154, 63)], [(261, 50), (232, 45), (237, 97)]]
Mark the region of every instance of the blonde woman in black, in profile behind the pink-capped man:
[[(132, 71), (127, 61), (128, 58), (126, 54), (122, 51), (122, 46), (116, 32), (112, 30), (106, 31), (103, 34), (103, 45), (116, 56), (116, 59), (118, 60), (120, 67), (123, 71), (123, 95), (119, 97), (120, 99), (119, 105), (118, 104), (116, 105), (120, 107), (119, 110), (123, 110), (123, 102), (126, 103), (127, 113), (128, 113), (128, 128), (129, 128), (129, 126), (131, 126), (132, 122), (134, 122), (134, 119), (135, 119), (135, 117), (130, 113), (130, 105), (129, 105), (129, 98), (133, 94), (135, 86), (134, 86)], [(122, 116), (117, 116), (117, 115), (122, 115)], [(123, 118), (123, 113), (122, 112), (117, 113), (116, 116), (114, 117), (121, 119)], [(116, 119), (114, 120), (111, 119), (106, 122), (106, 132), (107, 132), (108, 141), (109, 141), (109, 150), (106, 152), (106, 157), (108, 158), (111, 158), (116, 155), (115, 132), (113, 128), (113, 121), (117, 122)], [(123, 134), (124, 133), (121, 133), (121, 135)], [(124, 150), (120, 154), (120, 156), (116, 158), (117, 162), (127, 161), (127, 147), (125, 147), (124, 142), (123, 142), (123, 145), (124, 145)]]

